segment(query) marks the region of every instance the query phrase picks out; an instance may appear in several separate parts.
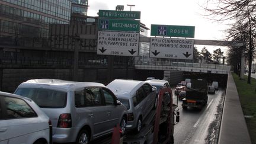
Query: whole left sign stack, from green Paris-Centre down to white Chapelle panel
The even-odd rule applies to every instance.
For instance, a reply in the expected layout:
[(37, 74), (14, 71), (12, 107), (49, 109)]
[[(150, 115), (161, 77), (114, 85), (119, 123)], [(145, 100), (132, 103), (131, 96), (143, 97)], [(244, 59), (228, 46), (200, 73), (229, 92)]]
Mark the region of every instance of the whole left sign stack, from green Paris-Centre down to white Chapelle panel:
[(98, 20), (98, 55), (138, 56), (139, 11), (100, 10)]

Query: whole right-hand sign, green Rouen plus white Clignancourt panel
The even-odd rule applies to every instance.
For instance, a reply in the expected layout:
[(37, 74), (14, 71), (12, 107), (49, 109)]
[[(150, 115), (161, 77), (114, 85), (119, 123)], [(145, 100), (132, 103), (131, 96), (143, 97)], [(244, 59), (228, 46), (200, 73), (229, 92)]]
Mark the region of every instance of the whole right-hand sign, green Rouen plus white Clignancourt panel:
[(151, 25), (150, 57), (167, 59), (193, 59), (194, 39), (178, 39), (167, 37), (194, 38), (192, 26), (183, 25)]

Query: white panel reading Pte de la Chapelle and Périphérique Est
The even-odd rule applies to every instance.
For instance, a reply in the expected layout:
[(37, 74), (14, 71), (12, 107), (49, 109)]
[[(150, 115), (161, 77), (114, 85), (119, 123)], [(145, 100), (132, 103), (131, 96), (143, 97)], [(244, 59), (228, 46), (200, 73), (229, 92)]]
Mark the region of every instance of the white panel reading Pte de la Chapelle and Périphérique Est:
[(98, 55), (138, 56), (139, 33), (98, 31)]

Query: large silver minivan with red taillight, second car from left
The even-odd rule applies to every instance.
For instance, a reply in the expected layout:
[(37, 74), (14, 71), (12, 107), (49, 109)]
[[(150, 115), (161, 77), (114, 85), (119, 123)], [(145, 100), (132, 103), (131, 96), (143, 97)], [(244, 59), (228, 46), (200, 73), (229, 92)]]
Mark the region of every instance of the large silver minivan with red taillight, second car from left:
[(126, 129), (127, 108), (100, 83), (32, 79), (15, 94), (31, 98), (50, 117), (56, 143), (89, 143), (117, 124), (122, 133)]

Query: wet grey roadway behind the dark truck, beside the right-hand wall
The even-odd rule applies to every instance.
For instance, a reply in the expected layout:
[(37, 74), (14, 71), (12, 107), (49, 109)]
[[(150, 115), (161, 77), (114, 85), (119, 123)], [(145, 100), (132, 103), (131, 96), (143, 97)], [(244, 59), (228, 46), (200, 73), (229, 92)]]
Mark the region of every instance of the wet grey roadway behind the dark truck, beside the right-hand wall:
[(220, 121), (217, 113), (220, 113), (219, 105), (223, 105), (224, 94), (222, 89), (216, 94), (208, 94), (207, 105), (202, 110), (183, 110), (182, 101), (178, 101), (180, 122), (174, 126), (174, 143), (206, 143), (215, 140)]

